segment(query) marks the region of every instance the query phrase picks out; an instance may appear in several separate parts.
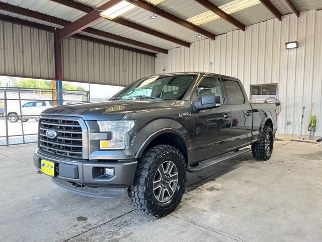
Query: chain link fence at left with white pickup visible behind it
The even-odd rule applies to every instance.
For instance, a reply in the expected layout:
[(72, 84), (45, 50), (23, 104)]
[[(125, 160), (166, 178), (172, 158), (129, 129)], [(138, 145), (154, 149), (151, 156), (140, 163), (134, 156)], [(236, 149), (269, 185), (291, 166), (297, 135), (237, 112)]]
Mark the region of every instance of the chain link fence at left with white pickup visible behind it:
[(37, 142), (42, 111), (89, 100), (88, 91), (0, 87), (0, 146)]

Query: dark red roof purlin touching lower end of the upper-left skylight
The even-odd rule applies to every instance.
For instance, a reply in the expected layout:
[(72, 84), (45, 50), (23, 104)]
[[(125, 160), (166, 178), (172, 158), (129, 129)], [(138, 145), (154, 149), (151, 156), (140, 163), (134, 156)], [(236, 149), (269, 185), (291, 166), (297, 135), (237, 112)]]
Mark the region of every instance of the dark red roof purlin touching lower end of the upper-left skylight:
[[(55, 3), (65, 5), (65, 6), (68, 6), (68, 7), (71, 7), (71, 8), (74, 8), (74, 9), (77, 9), (77, 10), (80, 10), (80, 11), (83, 11), (85, 13), (90, 13), (91, 11), (93, 11), (92, 7), (87, 6), (85, 4), (75, 2), (73, 0), (51, 0), (51, 1), (53, 1)], [(125, 20), (125, 19), (122, 19), (122, 18), (115, 18), (115, 19), (111, 19), (109, 21), (124, 25), (124, 26), (132, 28), (132, 29), (136, 29), (138, 31), (141, 31), (141, 32), (153, 35), (153, 36), (156, 36), (158, 38), (162, 38), (162, 39), (171, 41), (173, 43), (177, 43), (177, 44), (180, 44), (180, 45), (183, 45), (183, 46), (186, 46), (186, 47), (190, 47), (189, 42), (186, 42), (186, 41), (178, 39), (176, 37), (173, 37), (173, 36), (158, 32), (156, 30), (147, 28), (145, 26), (142, 26), (140, 24), (136, 24), (134, 22), (131, 22), (131, 21), (128, 21), (128, 20)]]

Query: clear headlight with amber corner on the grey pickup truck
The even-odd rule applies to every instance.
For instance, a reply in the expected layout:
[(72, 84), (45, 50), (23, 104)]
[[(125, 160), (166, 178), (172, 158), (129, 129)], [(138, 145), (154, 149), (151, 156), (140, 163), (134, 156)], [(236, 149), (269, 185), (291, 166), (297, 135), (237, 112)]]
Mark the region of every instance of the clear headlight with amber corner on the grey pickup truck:
[(99, 120), (100, 132), (111, 132), (110, 140), (100, 140), (100, 149), (124, 149), (127, 133), (134, 127), (134, 120)]

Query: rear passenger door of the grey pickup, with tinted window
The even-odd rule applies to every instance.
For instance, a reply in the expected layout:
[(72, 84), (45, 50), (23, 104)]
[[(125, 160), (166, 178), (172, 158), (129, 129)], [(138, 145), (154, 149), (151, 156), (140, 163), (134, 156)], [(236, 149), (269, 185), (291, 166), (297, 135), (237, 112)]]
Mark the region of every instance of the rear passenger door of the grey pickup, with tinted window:
[(231, 109), (231, 146), (239, 148), (251, 144), (253, 110), (236, 80), (221, 79)]

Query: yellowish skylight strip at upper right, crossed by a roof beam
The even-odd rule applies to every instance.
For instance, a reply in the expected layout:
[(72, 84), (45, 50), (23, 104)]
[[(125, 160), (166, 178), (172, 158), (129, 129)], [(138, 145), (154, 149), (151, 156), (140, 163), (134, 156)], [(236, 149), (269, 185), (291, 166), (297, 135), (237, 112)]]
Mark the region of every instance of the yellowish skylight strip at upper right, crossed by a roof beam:
[[(235, 0), (233, 2), (220, 6), (219, 9), (221, 9), (226, 14), (232, 14), (260, 3), (261, 2), (259, 0)], [(220, 17), (213, 12), (207, 11), (195, 17), (189, 18), (187, 19), (187, 21), (195, 25), (200, 25), (219, 18)]]

